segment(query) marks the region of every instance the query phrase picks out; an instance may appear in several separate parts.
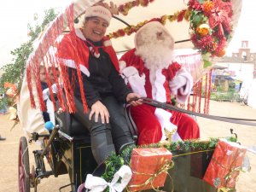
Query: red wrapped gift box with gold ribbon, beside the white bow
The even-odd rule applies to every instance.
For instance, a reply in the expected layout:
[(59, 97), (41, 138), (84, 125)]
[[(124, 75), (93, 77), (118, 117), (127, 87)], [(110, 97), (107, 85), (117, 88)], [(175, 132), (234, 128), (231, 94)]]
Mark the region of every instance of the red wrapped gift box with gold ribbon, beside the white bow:
[(164, 186), (167, 173), (162, 169), (170, 168), (171, 161), (172, 153), (166, 148), (134, 148), (131, 154), (130, 190), (139, 191)]

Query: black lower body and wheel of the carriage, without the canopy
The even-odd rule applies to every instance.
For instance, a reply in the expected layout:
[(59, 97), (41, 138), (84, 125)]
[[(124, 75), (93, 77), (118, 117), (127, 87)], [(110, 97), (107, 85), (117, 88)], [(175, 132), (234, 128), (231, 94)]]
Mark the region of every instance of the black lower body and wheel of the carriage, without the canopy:
[[(154, 103), (152, 104), (154, 105)], [(131, 118), (129, 107), (124, 110), (125, 117), (130, 124), (131, 134), (136, 142), (137, 127)], [(87, 174), (100, 176), (105, 172), (106, 165), (97, 166), (91, 153), (90, 134), (84, 131), (87, 130), (84, 125), (73, 114), (63, 111), (56, 112), (55, 118), (56, 125), (54, 127), (49, 122), (45, 124), (45, 129), (49, 130), (49, 134), (39, 135), (37, 132), (33, 132), (29, 140), (30, 143), (42, 142), (41, 149), (32, 151), (35, 166), (29, 164), (26, 137), (20, 137), (18, 165), (20, 192), (31, 191), (31, 188), (37, 191), (41, 179), (49, 176), (58, 177), (62, 174), (68, 174), (70, 181), (67, 181), (60, 191), (67, 187), (72, 191), (78, 191)], [(201, 180), (212, 159), (214, 148), (203, 152), (196, 149), (192, 153), (190, 150), (191, 148), (172, 151), (172, 161), (175, 166), (169, 170), (169, 174), (173, 180), (167, 178), (162, 189), (165, 191), (217, 191)], [(44, 164), (45, 159), (49, 164), (49, 170)]]

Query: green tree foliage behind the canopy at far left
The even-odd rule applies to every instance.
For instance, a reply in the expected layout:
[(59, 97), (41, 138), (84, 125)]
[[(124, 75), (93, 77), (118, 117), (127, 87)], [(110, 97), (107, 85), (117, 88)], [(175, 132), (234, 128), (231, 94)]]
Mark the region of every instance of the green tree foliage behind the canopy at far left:
[[(3, 87), (5, 82), (9, 82), (17, 84), (18, 90), (20, 90), (26, 68), (26, 61), (33, 51), (32, 43), (38, 38), (38, 35), (44, 30), (44, 27), (47, 26), (50, 21), (54, 20), (55, 17), (55, 9), (49, 9), (44, 11), (44, 20), (40, 25), (36, 24), (34, 27), (30, 24), (28, 25), (31, 39), (27, 43), (21, 44), (19, 48), (11, 51), (11, 55), (14, 55), (15, 59), (12, 63), (6, 64), (1, 68), (3, 70), (3, 75), (0, 79), (0, 87)], [(35, 21), (38, 21), (38, 18), (35, 17)]]

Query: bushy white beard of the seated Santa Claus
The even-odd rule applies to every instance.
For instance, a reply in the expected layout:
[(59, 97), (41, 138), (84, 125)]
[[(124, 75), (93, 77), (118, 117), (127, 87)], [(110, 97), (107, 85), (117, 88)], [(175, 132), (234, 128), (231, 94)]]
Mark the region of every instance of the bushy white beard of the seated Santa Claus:
[(139, 46), (136, 50), (136, 55), (142, 57), (145, 67), (150, 71), (156, 69), (167, 68), (173, 59), (173, 49), (170, 48), (172, 38), (166, 37), (165, 40), (158, 39), (145, 40), (149, 42)]

